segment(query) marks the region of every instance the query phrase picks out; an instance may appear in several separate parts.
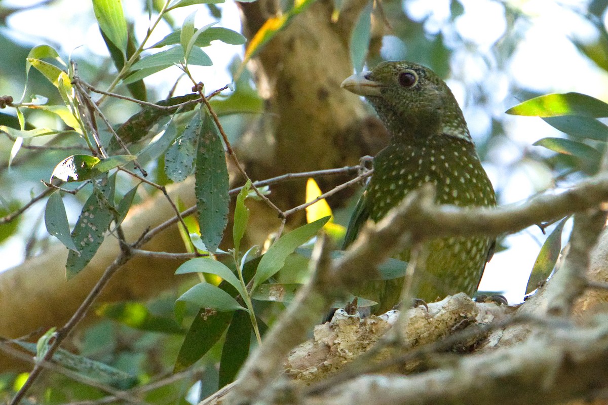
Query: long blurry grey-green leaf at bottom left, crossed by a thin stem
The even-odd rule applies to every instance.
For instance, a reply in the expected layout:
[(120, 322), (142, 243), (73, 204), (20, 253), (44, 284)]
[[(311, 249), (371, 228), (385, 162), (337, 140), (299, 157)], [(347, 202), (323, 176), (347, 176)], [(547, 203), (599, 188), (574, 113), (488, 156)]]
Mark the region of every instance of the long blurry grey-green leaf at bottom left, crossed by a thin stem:
[[(30, 342), (13, 341), (30, 353), (36, 353), (36, 345)], [(137, 378), (103, 364), (100, 361), (91, 360), (84, 356), (74, 355), (67, 350), (58, 349), (52, 357), (52, 361), (67, 369), (74, 370), (80, 375), (90, 378), (97, 383), (108, 384), (119, 389), (128, 389), (137, 383)]]

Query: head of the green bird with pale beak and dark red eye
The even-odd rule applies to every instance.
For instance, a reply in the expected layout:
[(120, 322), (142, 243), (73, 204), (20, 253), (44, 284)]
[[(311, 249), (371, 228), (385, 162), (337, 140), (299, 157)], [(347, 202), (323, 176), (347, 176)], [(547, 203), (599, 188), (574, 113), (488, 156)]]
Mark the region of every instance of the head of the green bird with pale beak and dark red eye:
[(342, 87), (370, 101), (393, 141), (418, 142), (433, 136), (471, 141), (454, 95), (427, 67), (406, 61), (384, 62), (348, 77)]

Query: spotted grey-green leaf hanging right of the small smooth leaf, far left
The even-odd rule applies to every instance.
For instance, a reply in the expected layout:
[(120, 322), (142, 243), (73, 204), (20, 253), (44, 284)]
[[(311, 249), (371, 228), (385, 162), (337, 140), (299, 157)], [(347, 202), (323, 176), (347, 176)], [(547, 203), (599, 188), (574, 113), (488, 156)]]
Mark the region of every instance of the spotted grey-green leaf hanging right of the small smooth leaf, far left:
[(110, 198), (114, 194), (113, 179), (103, 175), (95, 182), (91, 196), (86, 200), (80, 217), (72, 231), (72, 240), (78, 252), (73, 250), (67, 254), (66, 277), (71, 279), (80, 273), (83, 268), (95, 256), (98, 248), (102, 245), (112, 219), (114, 209), (109, 205)]

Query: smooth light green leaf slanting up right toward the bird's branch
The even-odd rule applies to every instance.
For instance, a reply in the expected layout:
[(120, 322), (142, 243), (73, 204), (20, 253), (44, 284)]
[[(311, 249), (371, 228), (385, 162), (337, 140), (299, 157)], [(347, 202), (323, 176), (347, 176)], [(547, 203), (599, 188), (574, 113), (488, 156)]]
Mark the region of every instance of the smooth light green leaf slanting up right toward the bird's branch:
[(255, 273), (252, 291), (254, 291), (258, 285), (274, 276), (277, 271), (281, 270), (285, 264), (285, 259), (287, 259), (287, 256), (294, 253), (297, 247), (313, 237), (323, 227), (323, 225), (330, 220), (330, 218), (331, 216), (326, 216), (324, 218), (317, 219), (314, 222), (300, 226), (300, 228), (296, 228), (272, 243), (271, 247), (268, 249), (268, 251), (266, 251), (260, 260), (258, 271)]

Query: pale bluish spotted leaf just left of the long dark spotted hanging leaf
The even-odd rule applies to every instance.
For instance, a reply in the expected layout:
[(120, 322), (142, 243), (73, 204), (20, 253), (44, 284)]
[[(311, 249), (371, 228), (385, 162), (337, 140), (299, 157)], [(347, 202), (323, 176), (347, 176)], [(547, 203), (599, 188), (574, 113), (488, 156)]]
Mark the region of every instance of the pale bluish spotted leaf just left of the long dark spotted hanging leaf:
[(165, 153), (165, 174), (174, 182), (183, 182), (192, 172), (196, 146), (201, 136), (201, 112), (197, 112)]

